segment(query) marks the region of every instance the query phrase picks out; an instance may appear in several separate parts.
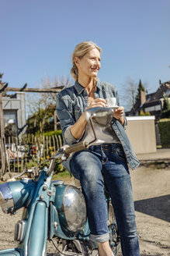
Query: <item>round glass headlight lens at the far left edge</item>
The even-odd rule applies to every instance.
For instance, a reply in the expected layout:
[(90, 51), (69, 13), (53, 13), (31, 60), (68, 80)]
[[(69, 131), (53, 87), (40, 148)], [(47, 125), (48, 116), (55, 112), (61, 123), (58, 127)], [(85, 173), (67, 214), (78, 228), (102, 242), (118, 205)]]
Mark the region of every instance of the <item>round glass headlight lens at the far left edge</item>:
[(12, 212), (13, 210), (14, 201), (12, 191), (8, 183), (3, 183), (0, 185), (0, 206), (2, 211), (5, 213)]

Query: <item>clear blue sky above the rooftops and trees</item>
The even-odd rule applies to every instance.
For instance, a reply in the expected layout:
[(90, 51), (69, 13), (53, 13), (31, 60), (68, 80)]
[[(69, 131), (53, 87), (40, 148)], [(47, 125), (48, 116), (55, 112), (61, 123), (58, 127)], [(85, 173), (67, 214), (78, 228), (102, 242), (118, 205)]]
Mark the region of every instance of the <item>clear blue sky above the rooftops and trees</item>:
[(169, 0), (0, 0), (0, 73), (10, 87), (71, 78), (75, 45), (102, 48), (99, 79), (121, 94), (127, 78), (156, 91), (170, 80)]

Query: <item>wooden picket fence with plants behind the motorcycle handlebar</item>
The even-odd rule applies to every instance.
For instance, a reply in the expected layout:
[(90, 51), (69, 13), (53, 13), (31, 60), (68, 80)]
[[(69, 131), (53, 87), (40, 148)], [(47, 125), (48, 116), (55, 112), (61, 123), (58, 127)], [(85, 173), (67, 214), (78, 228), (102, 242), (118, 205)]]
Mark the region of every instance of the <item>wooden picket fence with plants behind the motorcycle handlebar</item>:
[(5, 141), (7, 170), (22, 172), (24, 168), (29, 168), (32, 164), (38, 165), (50, 158), (62, 145), (61, 135), (46, 137), (28, 135), (21, 139), (9, 137)]

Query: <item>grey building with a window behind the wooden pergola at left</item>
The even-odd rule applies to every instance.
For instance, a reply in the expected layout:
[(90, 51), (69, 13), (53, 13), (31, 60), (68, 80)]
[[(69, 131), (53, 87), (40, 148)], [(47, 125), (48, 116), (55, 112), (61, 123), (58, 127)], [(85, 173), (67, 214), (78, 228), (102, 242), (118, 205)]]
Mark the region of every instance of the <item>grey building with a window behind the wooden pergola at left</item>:
[(23, 134), (26, 130), (25, 93), (17, 92), (2, 97), (2, 108), (5, 123), (5, 135)]

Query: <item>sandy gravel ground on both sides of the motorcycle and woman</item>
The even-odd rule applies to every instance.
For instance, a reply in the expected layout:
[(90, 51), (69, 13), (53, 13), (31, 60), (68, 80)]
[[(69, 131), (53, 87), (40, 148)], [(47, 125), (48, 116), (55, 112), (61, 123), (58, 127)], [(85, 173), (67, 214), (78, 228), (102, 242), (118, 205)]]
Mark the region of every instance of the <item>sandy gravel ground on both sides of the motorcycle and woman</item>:
[[(170, 256), (170, 168), (140, 167), (130, 172), (141, 256)], [(14, 226), (21, 219), (0, 210), (0, 249), (15, 247)], [(119, 256), (122, 255), (121, 252)]]

